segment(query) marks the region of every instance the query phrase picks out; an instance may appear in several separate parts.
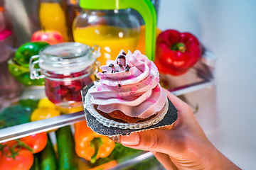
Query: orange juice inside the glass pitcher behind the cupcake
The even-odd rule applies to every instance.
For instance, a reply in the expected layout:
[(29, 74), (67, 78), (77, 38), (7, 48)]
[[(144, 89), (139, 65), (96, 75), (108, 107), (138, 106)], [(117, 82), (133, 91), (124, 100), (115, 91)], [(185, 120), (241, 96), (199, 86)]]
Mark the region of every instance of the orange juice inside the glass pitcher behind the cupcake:
[(113, 26), (87, 26), (73, 30), (75, 42), (85, 45), (100, 46), (101, 56), (97, 58), (100, 65), (107, 60), (115, 60), (121, 50), (134, 52), (137, 47), (139, 33), (130, 28), (117, 28)]

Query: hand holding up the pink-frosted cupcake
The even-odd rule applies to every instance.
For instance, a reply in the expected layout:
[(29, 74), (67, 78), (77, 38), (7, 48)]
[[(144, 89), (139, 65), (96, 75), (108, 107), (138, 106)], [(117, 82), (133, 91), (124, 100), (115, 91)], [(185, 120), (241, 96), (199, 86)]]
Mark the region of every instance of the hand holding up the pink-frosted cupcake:
[(191, 108), (166, 91), (178, 110), (171, 130), (154, 129), (120, 139), (122, 145), (153, 152), (166, 169), (239, 169), (208, 140)]

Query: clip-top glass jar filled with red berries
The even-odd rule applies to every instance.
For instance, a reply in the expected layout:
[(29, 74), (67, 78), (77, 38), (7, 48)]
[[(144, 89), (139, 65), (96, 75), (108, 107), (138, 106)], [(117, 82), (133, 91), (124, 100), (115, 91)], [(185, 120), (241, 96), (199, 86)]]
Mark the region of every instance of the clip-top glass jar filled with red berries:
[(100, 47), (79, 42), (47, 46), (39, 55), (31, 57), (31, 79), (45, 79), (46, 96), (55, 105), (63, 108), (81, 106), (80, 90), (95, 80), (99, 56)]

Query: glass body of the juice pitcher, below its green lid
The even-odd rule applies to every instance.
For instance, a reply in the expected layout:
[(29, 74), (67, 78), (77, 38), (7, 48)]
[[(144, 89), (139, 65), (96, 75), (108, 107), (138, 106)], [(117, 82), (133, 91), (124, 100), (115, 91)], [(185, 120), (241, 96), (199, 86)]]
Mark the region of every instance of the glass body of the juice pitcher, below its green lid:
[(104, 65), (114, 60), (120, 50), (136, 50), (139, 29), (139, 20), (130, 8), (83, 9), (73, 22), (73, 37), (75, 42), (100, 46), (102, 55), (98, 60)]

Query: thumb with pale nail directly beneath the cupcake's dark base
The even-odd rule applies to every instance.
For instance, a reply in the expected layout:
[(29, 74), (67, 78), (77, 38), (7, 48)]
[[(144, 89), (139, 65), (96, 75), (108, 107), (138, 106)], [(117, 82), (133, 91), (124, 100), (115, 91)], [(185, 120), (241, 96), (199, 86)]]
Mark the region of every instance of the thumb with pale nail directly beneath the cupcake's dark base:
[(125, 147), (169, 154), (177, 147), (174, 133), (172, 130), (146, 130), (122, 136), (120, 142)]

